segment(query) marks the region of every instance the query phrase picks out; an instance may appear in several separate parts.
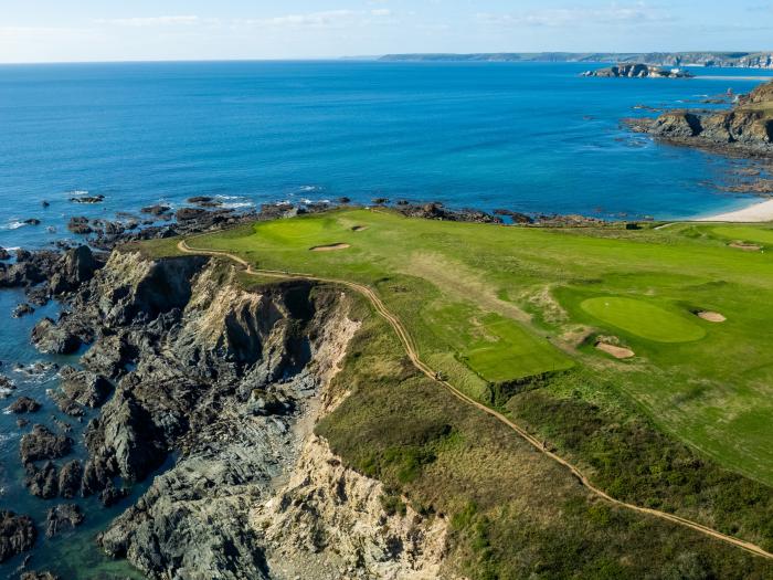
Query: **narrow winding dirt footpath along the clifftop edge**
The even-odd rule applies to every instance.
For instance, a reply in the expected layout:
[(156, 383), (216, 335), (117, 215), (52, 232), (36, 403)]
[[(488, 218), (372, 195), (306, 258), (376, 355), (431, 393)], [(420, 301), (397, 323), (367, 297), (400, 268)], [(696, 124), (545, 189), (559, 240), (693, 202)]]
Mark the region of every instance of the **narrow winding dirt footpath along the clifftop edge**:
[(726, 544), (735, 546), (737, 548), (741, 548), (750, 553), (753, 553), (754, 556), (760, 556), (762, 558), (773, 560), (773, 553), (763, 550), (761, 547), (756, 546), (755, 544), (741, 540), (741, 539), (735, 538), (733, 536), (728, 536), (727, 534), (722, 534), (721, 531), (718, 531), (713, 528), (710, 528), (708, 526), (703, 526), (702, 524), (698, 524), (697, 521), (692, 521), (690, 519), (686, 519), (686, 518), (676, 516), (674, 514), (668, 514), (666, 512), (660, 512), (658, 509), (642, 507), (642, 506), (637, 506), (635, 504), (628, 504), (626, 502), (615, 499), (614, 497), (608, 495), (603, 489), (595, 487), (591, 483), (591, 481), (576, 466), (574, 466), (573, 464), (571, 464), (569, 461), (561, 457), (560, 455), (557, 455), (552, 451), (546, 449), (546, 446), (542, 444), (542, 442), (540, 442), (537, 437), (534, 437), (532, 434), (530, 434), (523, 428), (521, 428), (517, 423), (513, 423), (510, 419), (508, 419), (502, 413), (500, 413), (500, 412), (476, 401), (475, 399), (466, 396), (464, 392), (459, 391), (456, 387), (451, 384), (448, 381), (446, 381), (442, 377), (440, 377), (436, 371), (434, 371), (432, 368), (430, 368), (427, 365), (425, 365), (419, 358), (419, 352), (416, 351), (416, 346), (413, 342), (411, 335), (407, 333), (407, 330), (405, 329), (403, 324), (400, 321), (400, 319), (395, 315), (393, 315), (386, 308), (386, 306), (384, 306), (381, 298), (368, 286), (366, 286), (363, 284), (358, 284), (356, 282), (345, 281), (345, 280), (333, 280), (333, 278), (325, 278), (325, 277), (318, 277), (318, 276), (309, 276), (306, 274), (295, 274), (295, 273), (288, 273), (288, 272), (280, 272), (280, 271), (276, 271), (276, 270), (255, 270), (252, 267), (252, 265), (248, 262), (239, 257), (237, 255), (230, 254), (227, 252), (215, 251), (215, 250), (202, 250), (202, 249), (191, 247), (188, 244), (187, 240), (182, 240), (180, 243), (178, 243), (177, 247), (180, 252), (183, 252), (187, 254), (203, 254), (203, 255), (226, 257), (226, 259), (229, 259), (233, 262), (236, 262), (237, 264), (244, 266), (245, 272), (247, 274), (251, 274), (251, 275), (322, 282), (322, 283), (327, 283), (327, 284), (345, 286), (347, 288), (351, 288), (354, 292), (360, 293), (361, 295), (363, 295), (366, 298), (368, 298), (370, 300), (370, 303), (373, 305), (373, 308), (375, 309), (375, 312), (392, 326), (394, 331), (398, 334), (398, 337), (400, 338), (401, 342), (403, 344), (403, 347), (405, 348), (405, 352), (407, 354), (409, 359), (411, 360), (411, 362), (413, 363), (413, 366), (416, 369), (419, 369), (422, 373), (426, 375), (433, 381), (442, 384), (447, 391), (449, 391), (457, 399), (459, 399), (463, 402), (465, 402), (472, 407), (475, 407), (476, 409), (483, 411), (484, 413), (495, 418), (497, 421), (499, 421), (500, 423), (504, 423), (505, 425), (510, 428), (512, 431), (518, 433), (518, 435), (520, 435), (521, 439), (527, 441), (537, 451), (547, 455), (548, 457), (550, 457), (554, 462), (563, 465), (566, 470), (569, 470), (571, 472), (571, 474), (579, 481), (579, 483), (581, 485), (583, 485), (592, 494), (605, 499), (606, 502), (608, 502), (612, 505), (615, 505), (615, 506), (618, 506), (618, 507), (622, 507), (625, 509), (629, 509), (632, 512), (637, 512), (639, 514), (646, 514), (646, 515), (654, 516), (654, 517), (657, 517), (660, 519), (665, 519), (666, 521), (670, 521), (673, 524), (678, 524), (678, 525), (684, 526), (686, 528), (690, 528), (695, 531), (698, 531), (700, 534), (709, 536), (713, 539), (717, 539), (717, 540), (723, 541)]

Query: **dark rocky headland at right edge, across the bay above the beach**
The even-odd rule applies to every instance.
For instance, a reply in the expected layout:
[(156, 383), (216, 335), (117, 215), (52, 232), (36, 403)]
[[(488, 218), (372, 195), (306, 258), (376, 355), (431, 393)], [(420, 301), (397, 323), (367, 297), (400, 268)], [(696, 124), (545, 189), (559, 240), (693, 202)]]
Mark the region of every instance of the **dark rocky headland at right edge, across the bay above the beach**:
[(773, 155), (773, 83), (740, 97), (729, 110), (669, 110), (655, 119), (631, 119), (634, 130), (677, 145), (743, 155)]

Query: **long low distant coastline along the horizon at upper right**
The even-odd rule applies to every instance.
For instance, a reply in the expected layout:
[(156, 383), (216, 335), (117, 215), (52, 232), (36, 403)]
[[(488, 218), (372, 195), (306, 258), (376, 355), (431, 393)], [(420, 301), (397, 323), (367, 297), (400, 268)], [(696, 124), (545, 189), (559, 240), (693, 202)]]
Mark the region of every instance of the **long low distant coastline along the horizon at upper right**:
[(657, 66), (773, 68), (773, 52), (507, 52), (478, 54), (386, 54), (392, 62), (637, 62)]

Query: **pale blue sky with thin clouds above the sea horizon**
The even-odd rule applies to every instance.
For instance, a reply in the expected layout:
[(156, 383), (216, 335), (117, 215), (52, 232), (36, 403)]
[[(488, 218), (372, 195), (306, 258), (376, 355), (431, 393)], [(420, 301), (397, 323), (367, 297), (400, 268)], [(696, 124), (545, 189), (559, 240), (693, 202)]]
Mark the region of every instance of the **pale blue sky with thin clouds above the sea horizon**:
[(773, 51), (773, 0), (0, 0), (0, 62)]

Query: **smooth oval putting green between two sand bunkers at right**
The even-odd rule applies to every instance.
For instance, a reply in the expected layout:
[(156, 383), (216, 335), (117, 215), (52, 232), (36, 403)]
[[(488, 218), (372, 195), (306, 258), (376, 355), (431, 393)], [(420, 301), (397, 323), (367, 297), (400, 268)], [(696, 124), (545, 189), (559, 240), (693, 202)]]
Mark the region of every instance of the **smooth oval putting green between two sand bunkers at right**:
[(706, 336), (706, 330), (686, 317), (644, 300), (606, 296), (589, 298), (581, 307), (604, 323), (656, 342), (690, 342)]

